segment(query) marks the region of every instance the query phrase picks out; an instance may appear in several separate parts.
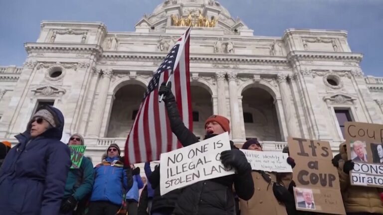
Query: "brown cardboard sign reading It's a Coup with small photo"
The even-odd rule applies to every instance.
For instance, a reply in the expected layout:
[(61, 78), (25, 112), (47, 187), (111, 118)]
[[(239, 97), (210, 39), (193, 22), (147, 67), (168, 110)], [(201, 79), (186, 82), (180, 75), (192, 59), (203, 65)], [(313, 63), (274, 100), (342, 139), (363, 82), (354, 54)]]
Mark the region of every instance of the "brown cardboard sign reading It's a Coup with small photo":
[(345, 215), (338, 171), (331, 162), (330, 143), (289, 137), (288, 144), (290, 156), (296, 163), (293, 180), (298, 188), (294, 192), (297, 210)]

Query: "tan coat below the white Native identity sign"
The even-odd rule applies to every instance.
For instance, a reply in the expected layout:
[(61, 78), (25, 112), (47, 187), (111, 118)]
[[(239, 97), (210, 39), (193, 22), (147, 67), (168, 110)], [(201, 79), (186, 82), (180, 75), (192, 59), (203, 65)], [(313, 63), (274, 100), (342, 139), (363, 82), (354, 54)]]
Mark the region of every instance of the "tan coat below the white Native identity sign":
[(265, 177), (270, 177), (271, 182), (263, 179), (261, 172), (251, 172), (255, 191), (250, 200), (239, 199), (241, 215), (287, 215), (285, 206), (278, 202), (273, 193), (273, 183), (276, 181), (275, 174), (267, 172), (262, 172), (262, 174), (266, 174)]

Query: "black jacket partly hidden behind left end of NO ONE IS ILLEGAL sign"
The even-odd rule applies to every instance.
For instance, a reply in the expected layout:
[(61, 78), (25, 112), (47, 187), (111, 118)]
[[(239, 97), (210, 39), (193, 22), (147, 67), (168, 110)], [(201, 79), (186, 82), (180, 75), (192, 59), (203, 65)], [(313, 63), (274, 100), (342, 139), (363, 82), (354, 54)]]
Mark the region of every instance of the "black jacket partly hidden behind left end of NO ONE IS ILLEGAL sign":
[(177, 198), (181, 195), (181, 190), (177, 189), (161, 196), (159, 186), (160, 168), (156, 168), (149, 176), (148, 180), (154, 189), (151, 213), (161, 212), (163, 214), (172, 214), (174, 208), (176, 207)]

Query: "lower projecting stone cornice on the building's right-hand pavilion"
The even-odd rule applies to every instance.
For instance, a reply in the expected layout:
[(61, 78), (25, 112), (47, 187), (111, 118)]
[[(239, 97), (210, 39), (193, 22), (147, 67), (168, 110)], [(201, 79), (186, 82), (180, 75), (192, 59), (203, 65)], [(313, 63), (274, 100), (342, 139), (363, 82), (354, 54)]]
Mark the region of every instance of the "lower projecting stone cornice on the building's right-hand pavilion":
[(289, 60), (325, 60), (325, 61), (353, 61), (360, 63), (363, 54), (350, 52), (316, 52), (316, 51), (291, 51), (287, 55)]

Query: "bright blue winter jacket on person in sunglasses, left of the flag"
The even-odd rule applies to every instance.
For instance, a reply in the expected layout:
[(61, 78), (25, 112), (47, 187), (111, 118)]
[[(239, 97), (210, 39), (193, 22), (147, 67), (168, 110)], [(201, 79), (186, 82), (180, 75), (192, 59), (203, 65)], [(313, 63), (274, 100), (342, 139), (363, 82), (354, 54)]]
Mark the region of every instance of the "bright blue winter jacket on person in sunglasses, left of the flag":
[(97, 165), (93, 184), (91, 202), (107, 201), (122, 205), (123, 189), (129, 190), (126, 171), (119, 164), (119, 157), (107, 157)]

